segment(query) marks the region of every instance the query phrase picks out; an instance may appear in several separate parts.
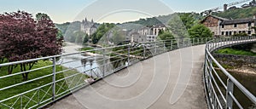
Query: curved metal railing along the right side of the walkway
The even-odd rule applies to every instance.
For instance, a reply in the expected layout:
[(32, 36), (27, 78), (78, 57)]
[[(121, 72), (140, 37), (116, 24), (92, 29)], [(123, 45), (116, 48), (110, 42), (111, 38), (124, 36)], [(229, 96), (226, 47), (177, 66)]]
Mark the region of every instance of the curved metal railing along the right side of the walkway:
[[(242, 95), (245, 95), (249, 100), (247, 102), (251, 102), (252, 104), (256, 105), (255, 96), (250, 93), (241, 83), (239, 83), (235, 77), (227, 72), (224, 67), (218, 63), (218, 60), (216, 60), (211, 54), (216, 49), (221, 49), (236, 44), (255, 42), (256, 37), (230, 37), (216, 38), (207, 43), (205, 51), (204, 83), (209, 108), (248, 108), (247, 106), (242, 105), (241, 100), (237, 99), (237, 95), (234, 94), (234, 89), (237, 89), (236, 91), (239, 91)], [(224, 77), (221, 77), (221, 75), (224, 75)]]

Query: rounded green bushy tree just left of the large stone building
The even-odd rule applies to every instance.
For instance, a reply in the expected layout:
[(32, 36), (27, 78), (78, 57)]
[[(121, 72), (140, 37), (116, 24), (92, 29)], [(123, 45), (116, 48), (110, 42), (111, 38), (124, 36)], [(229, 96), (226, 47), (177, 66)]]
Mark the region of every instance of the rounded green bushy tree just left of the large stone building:
[(207, 26), (198, 24), (195, 26), (192, 26), (189, 29), (189, 35), (191, 38), (195, 37), (212, 37), (212, 32)]

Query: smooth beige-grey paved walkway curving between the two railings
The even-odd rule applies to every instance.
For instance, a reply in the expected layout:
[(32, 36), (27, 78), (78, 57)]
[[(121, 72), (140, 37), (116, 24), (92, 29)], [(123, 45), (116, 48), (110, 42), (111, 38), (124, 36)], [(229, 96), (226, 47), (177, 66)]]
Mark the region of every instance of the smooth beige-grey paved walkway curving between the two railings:
[(143, 60), (57, 101), (49, 109), (206, 109), (204, 45)]

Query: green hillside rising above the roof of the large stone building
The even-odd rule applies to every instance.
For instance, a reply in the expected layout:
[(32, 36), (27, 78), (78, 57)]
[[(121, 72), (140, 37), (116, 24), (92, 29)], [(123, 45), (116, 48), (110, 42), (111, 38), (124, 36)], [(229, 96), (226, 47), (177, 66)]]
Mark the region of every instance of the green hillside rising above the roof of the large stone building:
[(253, 18), (253, 14), (256, 14), (256, 7), (250, 7), (246, 9), (231, 9), (224, 12), (215, 12), (212, 14), (227, 19)]

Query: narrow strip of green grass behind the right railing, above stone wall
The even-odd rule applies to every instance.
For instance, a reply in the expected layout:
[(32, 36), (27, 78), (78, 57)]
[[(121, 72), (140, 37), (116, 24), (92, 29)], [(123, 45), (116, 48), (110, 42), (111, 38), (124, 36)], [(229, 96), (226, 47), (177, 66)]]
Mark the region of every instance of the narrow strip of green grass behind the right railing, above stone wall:
[(251, 51), (246, 51), (242, 49), (230, 49), (230, 48), (225, 48), (225, 49), (218, 49), (216, 51), (217, 54), (239, 54), (239, 55), (247, 55), (247, 56), (256, 56), (256, 53), (253, 53)]

